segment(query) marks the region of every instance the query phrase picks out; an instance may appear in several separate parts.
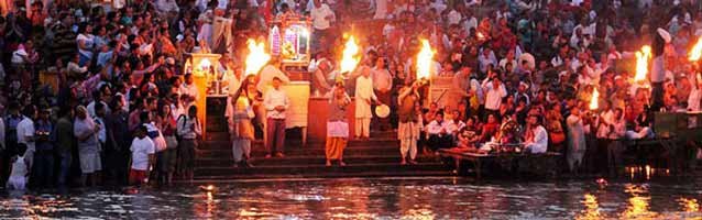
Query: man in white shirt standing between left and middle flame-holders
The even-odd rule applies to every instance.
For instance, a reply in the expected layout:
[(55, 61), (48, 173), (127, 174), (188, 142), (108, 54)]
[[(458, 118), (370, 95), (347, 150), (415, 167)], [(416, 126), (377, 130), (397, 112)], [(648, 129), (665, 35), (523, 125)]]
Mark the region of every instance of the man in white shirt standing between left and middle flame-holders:
[(283, 80), (273, 77), (273, 89), (268, 90), (263, 97), (263, 106), (266, 110), (266, 158), (271, 158), (273, 154), (277, 157), (284, 157), (283, 146), (285, 144), (285, 112), (290, 107), (290, 100), (281, 86)]

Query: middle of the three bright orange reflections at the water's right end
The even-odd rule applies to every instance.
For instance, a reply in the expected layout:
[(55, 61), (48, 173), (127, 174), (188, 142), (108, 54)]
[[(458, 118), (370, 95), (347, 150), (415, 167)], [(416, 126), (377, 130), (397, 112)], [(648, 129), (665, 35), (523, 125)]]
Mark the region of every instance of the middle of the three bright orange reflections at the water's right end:
[(648, 189), (646, 187), (629, 184), (626, 185), (624, 191), (630, 194), (632, 198), (628, 199), (629, 205), (626, 207), (626, 210), (624, 210), (624, 213), (622, 213), (622, 218), (654, 219), (659, 216), (658, 213), (649, 210), (650, 197), (641, 196), (648, 194)]

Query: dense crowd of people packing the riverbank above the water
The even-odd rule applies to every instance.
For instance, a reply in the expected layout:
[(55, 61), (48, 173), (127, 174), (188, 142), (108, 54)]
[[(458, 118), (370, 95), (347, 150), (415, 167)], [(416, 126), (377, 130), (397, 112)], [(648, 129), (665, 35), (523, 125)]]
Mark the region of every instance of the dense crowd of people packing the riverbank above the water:
[[(267, 24), (289, 15), (311, 20), (311, 89), (329, 94), (332, 116), (328, 165), (344, 165), (348, 124), (333, 122), (344, 122), (349, 97), (357, 102), (354, 138), (397, 129), (403, 164), (415, 164), (418, 151), (491, 151), (490, 143), (503, 139), (520, 140), (531, 153), (564, 153), (572, 170), (590, 155), (592, 164), (607, 164), (623, 140), (654, 135), (650, 85), (630, 80), (635, 68), (627, 65), (656, 37), (652, 30), (672, 36), (665, 46), (661, 109), (700, 110), (702, 79), (687, 59), (702, 34), (695, 3), (2, 1), (1, 179), (11, 188), (28, 179), (37, 188), (74, 179), (80, 186), (191, 179), (202, 122), (193, 105), (200, 95), (183, 64), (189, 53), (219, 46), (212, 41), (220, 33), (217, 18), (234, 21), (231, 47), (217, 65), (238, 87), (229, 89), (227, 110), (234, 161), (251, 166), (252, 127), (261, 124), (266, 157), (283, 157), (289, 95), (279, 86), (289, 79), (276, 62), (261, 76), (243, 77), (241, 48), (248, 38), (267, 38)], [(351, 28), (365, 33), (358, 36), (363, 61), (354, 73), (338, 74), (342, 33)], [(416, 80), (420, 40), (436, 50), (432, 80), (452, 77), (450, 101), (430, 100), (429, 86)], [(594, 91), (597, 109), (589, 108)], [(254, 103), (263, 110), (249, 108)], [(391, 117), (373, 116), (376, 105), (390, 106)], [(506, 133), (505, 124), (520, 132)]]

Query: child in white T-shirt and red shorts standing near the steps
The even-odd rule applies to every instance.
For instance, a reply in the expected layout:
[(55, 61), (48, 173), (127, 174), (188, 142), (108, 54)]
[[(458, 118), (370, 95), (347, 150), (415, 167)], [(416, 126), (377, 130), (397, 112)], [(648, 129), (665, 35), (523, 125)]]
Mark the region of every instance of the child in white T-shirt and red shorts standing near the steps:
[(130, 185), (146, 184), (149, 167), (153, 164), (156, 147), (151, 138), (146, 136), (147, 129), (142, 125), (136, 130), (136, 138), (132, 141), (132, 169), (129, 173)]

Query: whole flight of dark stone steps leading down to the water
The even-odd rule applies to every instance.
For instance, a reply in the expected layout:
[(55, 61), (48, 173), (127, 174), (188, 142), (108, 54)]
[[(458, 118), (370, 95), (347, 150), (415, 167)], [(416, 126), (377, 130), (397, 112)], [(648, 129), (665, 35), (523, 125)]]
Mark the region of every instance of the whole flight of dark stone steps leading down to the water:
[(399, 165), (399, 142), (395, 132), (372, 133), (368, 141), (349, 141), (344, 151), (347, 166), (325, 165), (325, 143), (311, 141), (303, 146), (299, 140), (288, 140), (285, 157), (264, 158), (261, 141), (252, 143), (254, 167), (233, 167), (231, 143), (227, 132), (209, 132), (198, 147), (196, 179), (260, 178), (341, 178), (386, 176), (450, 176), (451, 170), (434, 157), (418, 156), (418, 165)]

